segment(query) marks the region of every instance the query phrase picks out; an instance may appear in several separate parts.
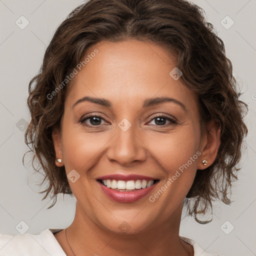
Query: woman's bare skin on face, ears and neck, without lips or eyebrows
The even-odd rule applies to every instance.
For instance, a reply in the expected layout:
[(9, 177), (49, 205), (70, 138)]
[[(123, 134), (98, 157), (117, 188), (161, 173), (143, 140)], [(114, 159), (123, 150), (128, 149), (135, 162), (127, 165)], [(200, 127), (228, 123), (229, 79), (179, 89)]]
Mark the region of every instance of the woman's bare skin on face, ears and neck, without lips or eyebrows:
[[(179, 237), (182, 204), (196, 170), (204, 171), (216, 157), (219, 125), (211, 120), (200, 132), (198, 97), (181, 79), (169, 75), (176, 59), (165, 48), (134, 39), (100, 42), (87, 52), (95, 48), (99, 52), (72, 79), (61, 129), (52, 133), (56, 158), (62, 159), (56, 165), (64, 165), (67, 174), (75, 169), (80, 175), (74, 183), (68, 179), (77, 200), (68, 242), (76, 256), (193, 255), (193, 247)], [(112, 106), (89, 101), (73, 106), (84, 96), (105, 98)], [(142, 108), (145, 99), (161, 96), (182, 102), (186, 111), (174, 102)], [(79, 122), (85, 114), (102, 119), (93, 126), (88, 118), (86, 126)], [(161, 125), (157, 115), (177, 124), (164, 119)], [(125, 132), (118, 126), (123, 118), (131, 123)], [(201, 155), (150, 202), (148, 197), (197, 151)], [(96, 182), (98, 176), (113, 173), (147, 175), (159, 182), (149, 195), (121, 203), (106, 197)], [(118, 228), (123, 221), (130, 228), (125, 234)], [(55, 238), (68, 256), (73, 255), (64, 229)]]

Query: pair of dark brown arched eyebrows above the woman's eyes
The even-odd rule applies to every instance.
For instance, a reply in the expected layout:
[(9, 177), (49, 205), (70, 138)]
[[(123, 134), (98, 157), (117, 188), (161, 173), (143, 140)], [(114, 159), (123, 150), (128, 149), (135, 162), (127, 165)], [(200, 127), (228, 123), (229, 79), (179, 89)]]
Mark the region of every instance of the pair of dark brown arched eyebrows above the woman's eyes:
[[(111, 107), (112, 106), (111, 102), (109, 100), (105, 99), (105, 98), (94, 98), (94, 97), (90, 97), (90, 96), (85, 96), (85, 97), (82, 97), (82, 98), (78, 99), (72, 105), (72, 108), (75, 105), (77, 105), (78, 103), (84, 102), (84, 101), (89, 101), (89, 102), (92, 102), (92, 103), (95, 103), (95, 104), (99, 104), (99, 105), (102, 105), (102, 106), (106, 106), (106, 107)], [(165, 97), (154, 97), (154, 98), (145, 99), (143, 101), (142, 108), (145, 108), (145, 107), (148, 107), (148, 106), (152, 106), (152, 105), (156, 105), (156, 104), (163, 103), (163, 102), (173, 102), (173, 103), (176, 103), (179, 106), (181, 106), (185, 111), (187, 111), (185, 105), (182, 102), (180, 102), (179, 100), (177, 100), (175, 98), (166, 97), (166, 96)]]

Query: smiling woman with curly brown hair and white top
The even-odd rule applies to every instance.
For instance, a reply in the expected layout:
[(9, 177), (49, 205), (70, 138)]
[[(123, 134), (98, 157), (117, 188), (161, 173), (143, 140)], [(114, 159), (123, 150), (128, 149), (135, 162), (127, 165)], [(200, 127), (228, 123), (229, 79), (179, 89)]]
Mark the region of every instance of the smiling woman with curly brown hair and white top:
[[(227, 196), (247, 127), (223, 42), (185, 0), (89, 0), (57, 28), (29, 84), (26, 143), (64, 229), (0, 255), (213, 255), (179, 236)], [(206, 222), (209, 222), (210, 219)], [(33, 238), (33, 239), (32, 239)], [(31, 242), (33, 241), (33, 242)], [(9, 253), (9, 254), (8, 254)]]

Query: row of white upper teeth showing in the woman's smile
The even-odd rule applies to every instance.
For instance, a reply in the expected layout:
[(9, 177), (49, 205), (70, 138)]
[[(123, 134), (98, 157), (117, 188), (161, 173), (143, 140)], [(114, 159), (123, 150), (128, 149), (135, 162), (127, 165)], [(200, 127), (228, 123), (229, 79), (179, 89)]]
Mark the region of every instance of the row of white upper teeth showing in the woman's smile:
[(106, 187), (110, 187), (112, 189), (126, 189), (126, 190), (134, 190), (134, 189), (141, 189), (149, 187), (153, 184), (153, 180), (110, 180), (110, 179), (103, 179), (103, 184)]

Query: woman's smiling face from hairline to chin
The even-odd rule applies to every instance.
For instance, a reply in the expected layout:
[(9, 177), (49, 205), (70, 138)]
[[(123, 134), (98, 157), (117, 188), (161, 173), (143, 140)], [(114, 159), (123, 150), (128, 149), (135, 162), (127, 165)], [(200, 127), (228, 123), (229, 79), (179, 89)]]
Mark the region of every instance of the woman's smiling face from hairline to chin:
[(81, 214), (113, 232), (121, 223), (142, 232), (180, 214), (196, 169), (214, 161), (217, 146), (200, 133), (197, 95), (169, 74), (174, 55), (137, 40), (100, 42), (87, 54), (94, 49), (53, 134), (56, 164), (73, 176)]

